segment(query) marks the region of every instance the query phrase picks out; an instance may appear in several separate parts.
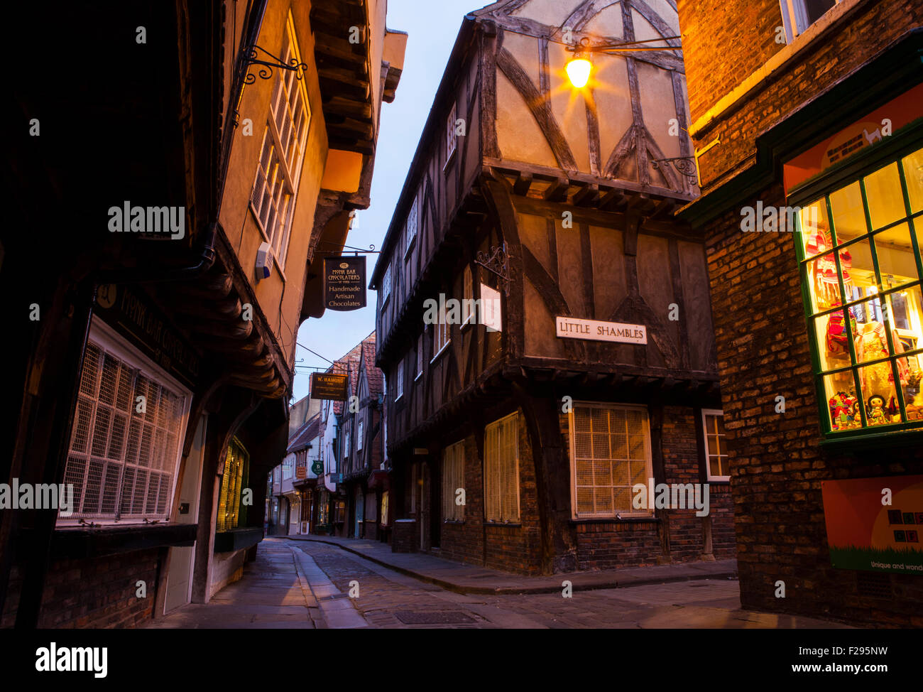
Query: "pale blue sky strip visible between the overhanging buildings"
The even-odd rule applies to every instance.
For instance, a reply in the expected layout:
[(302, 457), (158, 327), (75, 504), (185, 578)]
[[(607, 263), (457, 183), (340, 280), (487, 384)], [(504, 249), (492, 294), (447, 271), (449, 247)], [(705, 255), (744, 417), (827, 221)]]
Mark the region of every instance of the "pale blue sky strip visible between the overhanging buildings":
[[(488, 4), (486, 0), (389, 0), (388, 27), (409, 34), (407, 53), (394, 103), (381, 106), (372, 203), (358, 212), (358, 227), (350, 232), (347, 245), (381, 247), (462, 18)], [(366, 258), (366, 271), (371, 274), (378, 255)], [(375, 305), (375, 293), (368, 291), (367, 307), (362, 310), (327, 310), (319, 320), (301, 325), (298, 343), (325, 358), (340, 358), (375, 329)], [(304, 358), (298, 365), (328, 365), (301, 347), (295, 358)], [(295, 369), (295, 400), (307, 395), (310, 372)]]

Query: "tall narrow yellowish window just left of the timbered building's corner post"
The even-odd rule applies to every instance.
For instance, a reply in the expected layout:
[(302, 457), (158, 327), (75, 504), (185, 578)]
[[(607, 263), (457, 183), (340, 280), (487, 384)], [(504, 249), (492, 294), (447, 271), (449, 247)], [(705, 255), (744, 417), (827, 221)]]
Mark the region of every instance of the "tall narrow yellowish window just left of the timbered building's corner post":
[(519, 440), (513, 413), (484, 431), (484, 513), (487, 521), (519, 522)]

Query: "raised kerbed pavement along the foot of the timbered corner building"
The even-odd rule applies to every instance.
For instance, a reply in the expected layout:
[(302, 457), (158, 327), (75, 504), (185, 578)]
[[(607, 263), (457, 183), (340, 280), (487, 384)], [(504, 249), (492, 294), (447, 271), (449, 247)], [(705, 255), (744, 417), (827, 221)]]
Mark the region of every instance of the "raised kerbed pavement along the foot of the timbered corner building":
[(445, 560), (419, 552), (391, 552), (390, 545), (376, 540), (341, 539), (332, 536), (287, 536), (287, 540), (326, 543), (456, 593), (519, 594), (555, 593), (568, 580), (574, 591), (619, 589), (647, 584), (666, 584), (692, 579), (737, 578), (737, 560), (713, 560), (650, 567), (624, 567), (593, 572), (569, 572), (549, 577), (511, 575), (496, 569)]

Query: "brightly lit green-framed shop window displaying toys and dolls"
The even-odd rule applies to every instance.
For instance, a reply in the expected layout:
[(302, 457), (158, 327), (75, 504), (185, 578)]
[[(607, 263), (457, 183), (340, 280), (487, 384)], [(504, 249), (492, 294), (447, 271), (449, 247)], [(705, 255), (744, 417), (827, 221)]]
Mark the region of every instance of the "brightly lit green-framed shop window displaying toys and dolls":
[(811, 200), (797, 229), (825, 431), (923, 426), (923, 150)]

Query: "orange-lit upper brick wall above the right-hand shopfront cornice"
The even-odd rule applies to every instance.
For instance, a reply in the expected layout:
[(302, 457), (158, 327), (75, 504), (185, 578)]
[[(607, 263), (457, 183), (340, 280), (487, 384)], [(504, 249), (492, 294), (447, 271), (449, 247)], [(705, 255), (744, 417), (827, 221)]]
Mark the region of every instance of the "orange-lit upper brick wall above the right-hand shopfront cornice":
[[(782, 15), (777, 0), (679, 0), (677, 5), (694, 123), (785, 48), (774, 42), (774, 27), (781, 26)], [(921, 22), (921, 3), (865, 0), (714, 127), (700, 135), (690, 128), (697, 148), (721, 139), (699, 159), (703, 191), (713, 182), (724, 182), (753, 155), (757, 135)]]

